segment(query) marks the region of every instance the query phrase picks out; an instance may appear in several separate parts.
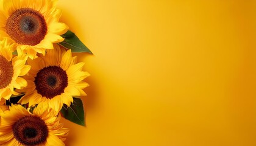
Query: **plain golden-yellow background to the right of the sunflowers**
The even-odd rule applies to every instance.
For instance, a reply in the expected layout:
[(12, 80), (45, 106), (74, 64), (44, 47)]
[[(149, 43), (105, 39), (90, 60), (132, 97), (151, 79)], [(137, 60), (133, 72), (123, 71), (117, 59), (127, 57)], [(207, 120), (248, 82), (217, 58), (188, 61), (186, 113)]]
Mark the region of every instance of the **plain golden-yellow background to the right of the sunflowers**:
[(256, 2), (61, 0), (92, 50), (66, 145), (256, 145)]

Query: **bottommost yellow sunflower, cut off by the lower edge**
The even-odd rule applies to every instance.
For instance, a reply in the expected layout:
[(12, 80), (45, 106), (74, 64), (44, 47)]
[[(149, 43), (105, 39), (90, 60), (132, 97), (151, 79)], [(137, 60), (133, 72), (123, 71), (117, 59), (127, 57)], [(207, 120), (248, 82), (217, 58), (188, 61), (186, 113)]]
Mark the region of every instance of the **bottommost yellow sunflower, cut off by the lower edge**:
[(0, 145), (65, 145), (68, 129), (60, 116), (39, 104), (32, 113), (21, 105), (0, 113)]

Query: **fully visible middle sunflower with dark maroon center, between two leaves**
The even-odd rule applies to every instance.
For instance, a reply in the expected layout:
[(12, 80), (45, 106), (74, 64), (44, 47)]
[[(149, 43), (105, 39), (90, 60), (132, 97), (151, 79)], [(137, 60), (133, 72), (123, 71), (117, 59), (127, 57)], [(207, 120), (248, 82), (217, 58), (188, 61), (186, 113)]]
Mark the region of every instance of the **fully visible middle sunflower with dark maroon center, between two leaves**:
[(27, 87), (19, 103), (34, 106), (44, 103), (45, 106), (59, 112), (63, 103), (70, 106), (73, 96), (86, 96), (82, 90), (88, 86), (83, 82), (88, 72), (82, 71), (85, 63), (77, 63), (77, 57), (72, 57), (71, 50), (60, 49), (54, 44), (53, 50), (46, 50), (46, 55), (34, 60), (27, 60), (31, 65)]

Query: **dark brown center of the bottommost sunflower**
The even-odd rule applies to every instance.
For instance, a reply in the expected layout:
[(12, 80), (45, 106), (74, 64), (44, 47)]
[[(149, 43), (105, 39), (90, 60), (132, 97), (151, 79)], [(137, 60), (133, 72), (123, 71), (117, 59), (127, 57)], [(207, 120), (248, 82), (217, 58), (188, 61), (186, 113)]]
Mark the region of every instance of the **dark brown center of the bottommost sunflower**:
[(47, 125), (40, 117), (22, 117), (13, 125), (12, 130), (15, 139), (24, 145), (43, 144), (48, 137)]

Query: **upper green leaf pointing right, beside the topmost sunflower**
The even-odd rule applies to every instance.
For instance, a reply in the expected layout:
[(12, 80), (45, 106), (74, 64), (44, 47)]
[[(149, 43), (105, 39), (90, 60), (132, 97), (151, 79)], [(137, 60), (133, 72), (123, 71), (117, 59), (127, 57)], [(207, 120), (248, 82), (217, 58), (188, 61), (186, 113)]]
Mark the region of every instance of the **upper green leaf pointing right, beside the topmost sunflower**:
[(60, 42), (59, 44), (66, 49), (71, 49), (72, 52), (87, 52), (93, 54), (91, 50), (88, 49), (88, 47), (79, 40), (76, 34), (71, 32), (70, 30), (62, 35), (62, 37), (65, 38), (65, 40)]

